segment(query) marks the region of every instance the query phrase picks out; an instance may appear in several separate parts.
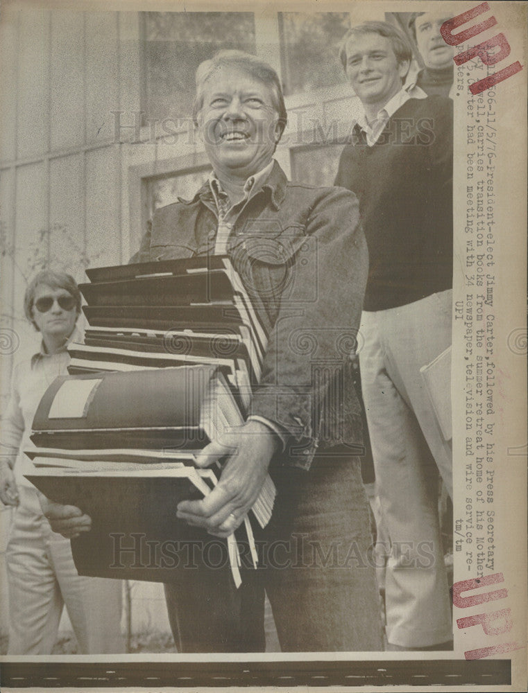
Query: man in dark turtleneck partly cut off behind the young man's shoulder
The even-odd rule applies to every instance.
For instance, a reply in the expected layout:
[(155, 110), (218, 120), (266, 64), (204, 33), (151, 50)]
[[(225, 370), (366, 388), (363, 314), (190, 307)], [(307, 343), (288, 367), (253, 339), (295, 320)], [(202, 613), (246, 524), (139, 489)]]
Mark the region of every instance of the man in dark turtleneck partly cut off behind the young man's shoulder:
[(413, 12), (409, 28), (414, 34), (425, 68), (418, 73), (416, 85), (428, 96), (450, 96), (454, 82), (454, 48), (446, 44), (440, 27), (453, 15), (445, 8), (431, 12)]

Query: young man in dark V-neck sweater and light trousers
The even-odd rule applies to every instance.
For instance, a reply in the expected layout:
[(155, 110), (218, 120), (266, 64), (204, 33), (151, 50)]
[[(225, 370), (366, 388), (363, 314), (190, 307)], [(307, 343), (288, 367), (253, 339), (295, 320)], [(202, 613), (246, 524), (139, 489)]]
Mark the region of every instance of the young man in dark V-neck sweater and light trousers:
[(438, 471), (452, 493), (452, 454), (420, 368), (451, 343), (452, 102), (402, 88), (411, 46), (391, 24), (350, 29), (341, 60), (364, 108), (335, 184), (357, 194), (369, 252), (359, 363), (390, 546), (387, 640), (447, 649), (437, 501)]

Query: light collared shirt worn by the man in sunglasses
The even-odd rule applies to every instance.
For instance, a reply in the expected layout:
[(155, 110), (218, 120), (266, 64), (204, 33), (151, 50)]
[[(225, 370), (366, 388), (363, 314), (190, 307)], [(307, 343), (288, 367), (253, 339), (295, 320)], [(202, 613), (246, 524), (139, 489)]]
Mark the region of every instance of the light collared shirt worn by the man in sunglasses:
[(1, 420), (0, 455), (11, 468), (15, 468), (17, 485), (33, 488), (24, 475), (31, 474), (35, 467), (23, 452), (35, 447), (29, 438), (33, 416), (53, 380), (68, 374), (70, 356), (67, 349), (71, 342), (78, 342), (80, 336), (80, 331), (75, 328), (64, 347), (56, 353), (47, 353), (42, 342), (37, 353), (18, 362), (12, 371), (10, 398)]

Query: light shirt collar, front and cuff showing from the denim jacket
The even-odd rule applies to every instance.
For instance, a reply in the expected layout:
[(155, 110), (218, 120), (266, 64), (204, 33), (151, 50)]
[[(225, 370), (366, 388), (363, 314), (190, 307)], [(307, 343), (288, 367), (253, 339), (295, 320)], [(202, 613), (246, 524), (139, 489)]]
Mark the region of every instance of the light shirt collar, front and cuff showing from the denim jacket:
[[(272, 159), (267, 166), (262, 168), (262, 170), (248, 177), (244, 183), (244, 197), (235, 202), (235, 204), (232, 204), (228, 193), (223, 190), (219, 179), (216, 176), (210, 179), (209, 185), (216, 204), (216, 211), (218, 212), (218, 229), (216, 230), (216, 243), (214, 244), (215, 255), (225, 255), (227, 252), (229, 236), (237, 214), (241, 208), (244, 207), (244, 204), (262, 188), (262, 185), (266, 182), (266, 178), (271, 173), (273, 163), (274, 159)], [(264, 416), (255, 415), (248, 416), (248, 421), (259, 421), (260, 423), (264, 423), (266, 428), (269, 428), (273, 433), (278, 435), (282, 443), (282, 450), (284, 450), (286, 446), (286, 435), (278, 424), (269, 421), (269, 419), (264, 419)]]

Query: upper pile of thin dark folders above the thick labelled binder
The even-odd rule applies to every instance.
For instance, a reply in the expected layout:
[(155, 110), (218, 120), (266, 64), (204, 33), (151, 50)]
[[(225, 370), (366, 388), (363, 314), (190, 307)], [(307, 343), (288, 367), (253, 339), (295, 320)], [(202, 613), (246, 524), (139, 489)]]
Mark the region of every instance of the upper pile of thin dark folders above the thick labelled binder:
[[(264, 326), (227, 256), (87, 270), (90, 328), (72, 344), (70, 373), (211, 363), (244, 407), (258, 383)], [(242, 412), (244, 413), (244, 412)]]

